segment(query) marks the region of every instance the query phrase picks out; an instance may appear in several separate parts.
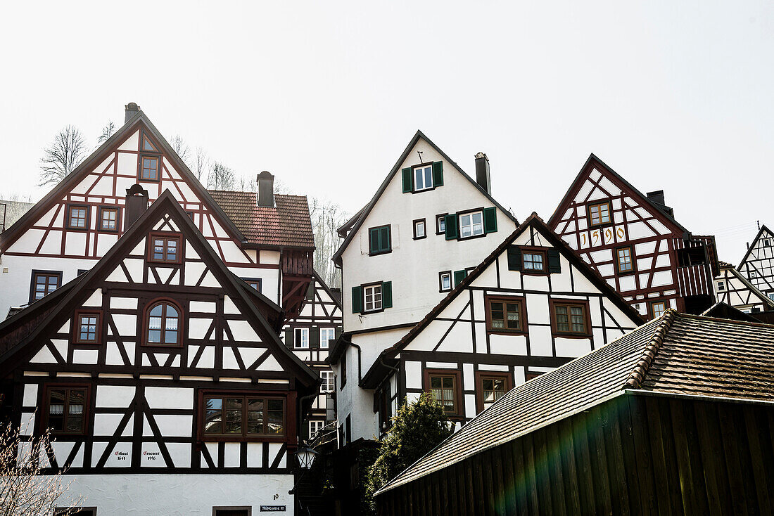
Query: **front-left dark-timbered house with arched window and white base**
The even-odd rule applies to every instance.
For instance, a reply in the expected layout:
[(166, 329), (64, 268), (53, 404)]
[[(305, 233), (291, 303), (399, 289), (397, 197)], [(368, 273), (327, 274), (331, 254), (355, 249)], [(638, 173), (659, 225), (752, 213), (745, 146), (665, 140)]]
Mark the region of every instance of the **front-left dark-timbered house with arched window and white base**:
[(46, 473), (68, 467), (96, 514), (293, 514), (319, 378), (187, 207), (164, 191), (87, 272), (0, 324), (2, 415), (23, 446), (52, 429)]

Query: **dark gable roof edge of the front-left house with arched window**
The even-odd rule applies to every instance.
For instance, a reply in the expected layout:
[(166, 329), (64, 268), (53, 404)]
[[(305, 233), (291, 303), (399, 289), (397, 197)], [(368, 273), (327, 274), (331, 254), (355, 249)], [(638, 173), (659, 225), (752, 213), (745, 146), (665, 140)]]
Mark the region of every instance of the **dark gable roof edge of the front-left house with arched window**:
[[(247, 284), (241, 282), (228, 268), (223, 261), (217, 257), (212, 246), (204, 238), (204, 235), (197, 230), (190, 217), (187, 216), (180, 204), (174, 198), (169, 190), (165, 190), (161, 196), (139, 217), (131, 227), (118, 239), (118, 242), (92, 267), (88, 272), (78, 276), (62, 289), (57, 289), (49, 296), (40, 299), (33, 305), (23, 309), (8, 320), (0, 323), (0, 335), (14, 333), (19, 329), (19, 323), (29, 320), (39, 309), (50, 309), (40, 322), (34, 327), (28, 327), (27, 331), (16, 335), (12, 342), (5, 342), (5, 346), (0, 348), (0, 365), (8, 367), (9, 361), (13, 362), (19, 357), (26, 355), (26, 352), (37, 350), (39, 338), (51, 327), (60, 327), (63, 320), (71, 315), (74, 306), (80, 306), (80, 303), (90, 294), (92, 289), (99, 288), (100, 282), (104, 280), (122, 260), (122, 257), (128, 255), (135, 248), (138, 241), (149, 234), (152, 227), (163, 214), (170, 214), (170, 217), (180, 227), (187, 241), (193, 246), (195, 251), (204, 260), (207, 268), (215, 275), (218, 282), (224, 286), (224, 289), (230, 291), (229, 294), (235, 299), (242, 299), (248, 310), (248, 315), (252, 320), (257, 320), (262, 326), (262, 337), (267, 339), (267, 345), (274, 351), (275, 357), (285, 367), (296, 374), (296, 377), (307, 388), (316, 388), (319, 384), (319, 377), (306, 364), (303, 363), (296, 354), (288, 350), (277, 337), (276, 331), (269, 325), (266, 317), (259, 311), (257, 304), (265, 310), (272, 312), (281, 312), (282, 309), (276, 306), (271, 300), (251, 289)], [(251, 299), (252, 298), (252, 299)], [(258, 300), (259, 303), (256, 303)], [(29, 326), (26, 325), (26, 326)], [(29, 349), (28, 349), (29, 347)]]

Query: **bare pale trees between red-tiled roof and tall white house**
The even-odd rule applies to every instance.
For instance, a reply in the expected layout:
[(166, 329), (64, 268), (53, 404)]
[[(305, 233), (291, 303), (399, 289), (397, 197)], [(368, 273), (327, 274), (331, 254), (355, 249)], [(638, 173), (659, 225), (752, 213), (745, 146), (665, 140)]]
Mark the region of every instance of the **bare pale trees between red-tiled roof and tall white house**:
[(314, 251), (314, 270), (328, 286), (341, 288), (341, 269), (336, 268), (330, 258), (341, 244), (336, 230), (347, 221), (348, 214), (338, 204), (316, 198), (310, 200), (309, 214), (317, 248)]

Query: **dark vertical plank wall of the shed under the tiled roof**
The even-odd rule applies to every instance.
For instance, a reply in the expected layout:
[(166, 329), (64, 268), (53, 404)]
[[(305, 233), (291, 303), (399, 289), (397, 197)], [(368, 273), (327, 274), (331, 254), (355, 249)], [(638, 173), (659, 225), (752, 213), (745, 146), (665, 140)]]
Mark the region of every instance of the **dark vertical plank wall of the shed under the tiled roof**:
[(380, 516), (772, 514), (772, 464), (771, 405), (623, 395), (376, 503)]

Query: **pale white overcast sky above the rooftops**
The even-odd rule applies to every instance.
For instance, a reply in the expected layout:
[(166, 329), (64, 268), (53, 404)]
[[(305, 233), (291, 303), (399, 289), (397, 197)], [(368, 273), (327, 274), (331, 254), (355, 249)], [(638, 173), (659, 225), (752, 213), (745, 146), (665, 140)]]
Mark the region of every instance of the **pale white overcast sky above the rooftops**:
[[(626, 5), (622, 5), (626, 4)], [(547, 220), (590, 152), (737, 262), (774, 224), (771, 2), (12, 2), (0, 196), (64, 125), (137, 102), (170, 138), (364, 205), (421, 128)]]

